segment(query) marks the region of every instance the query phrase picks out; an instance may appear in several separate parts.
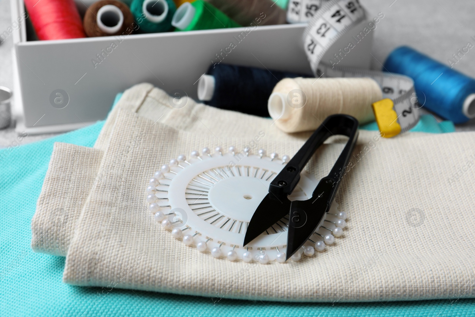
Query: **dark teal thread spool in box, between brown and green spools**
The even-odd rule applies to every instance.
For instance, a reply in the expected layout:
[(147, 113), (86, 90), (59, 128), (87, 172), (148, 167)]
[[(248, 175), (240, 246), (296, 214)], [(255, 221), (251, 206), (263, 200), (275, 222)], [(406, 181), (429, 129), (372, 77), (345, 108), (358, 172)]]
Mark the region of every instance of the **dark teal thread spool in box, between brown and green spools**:
[(171, 29), (176, 6), (173, 0), (133, 0), (130, 10), (140, 30), (155, 33)]

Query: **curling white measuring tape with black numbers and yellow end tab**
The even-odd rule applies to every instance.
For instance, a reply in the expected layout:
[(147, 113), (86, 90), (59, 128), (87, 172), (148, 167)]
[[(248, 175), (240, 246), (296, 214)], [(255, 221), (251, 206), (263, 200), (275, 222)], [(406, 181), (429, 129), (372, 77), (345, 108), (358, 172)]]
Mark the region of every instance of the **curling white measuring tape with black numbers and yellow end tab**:
[[(308, 21), (304, 30), (304, 50), (316, 77), (371, 77), (376, 80), (384, 99), (372, 106), (383, 136), (391, 137), (408, 131), (418, 123), (420, 106), (417, 106), (418, 99), (411, 78), (336, 65), (347, 54), (352, 54), (352, 49), (358, 45), (360, 38), (353, 36), (354, 40), (343, 50), (336, 50), (335, 42), (355, 30), (361, 34), (362, 39), (371, 32), (371, 23), (374, 25), (374, 22), (367, 20), (366, 11), (358, 0), (291, 0), (287, 9), (287, 21)], [(368, 26), (357, 29), (365, 21)], [(322, 59), (324, 55), (328, 56), (326, 53), (333, 53), (332, 49), (335, 53), (334, 59), (327, 64)]]

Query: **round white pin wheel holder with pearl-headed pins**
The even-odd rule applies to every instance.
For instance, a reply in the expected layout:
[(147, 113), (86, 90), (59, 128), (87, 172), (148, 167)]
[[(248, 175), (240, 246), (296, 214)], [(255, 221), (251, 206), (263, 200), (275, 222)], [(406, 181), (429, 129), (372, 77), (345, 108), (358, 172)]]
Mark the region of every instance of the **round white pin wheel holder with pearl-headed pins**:
[[(191, 152), (172, 159), (155, 172), (147, 187), (147, 202), (153, 218), (161, 223), (161, 230), (170, 230), (173, 238), (200, 252), (209, 252), (215, 258), (230, 261), (285, 262), (288, 216), (271, 226), (266, 232), (243, 247), (247, 225), (269, 184), (282, 170), (289, 157), (278, 154), (266, 156), (260, 149), (251, 154), (247, 147), (237, 152), (234, 146), (228, 153), (221, 147), (211, 154), (204, 148), (201, 154)], [(317, 180), (302, 172), (300, 182), (289, 200), (307, 200), (317, 185)], [(333, 202), (314, 235), (307, 240), (300, 252), (291, 259), (298, 261), (302, 253), (314, 256), (315, 250), (323, 251), (335, 237), (343, 235), (347, 215), (337, 210)]]

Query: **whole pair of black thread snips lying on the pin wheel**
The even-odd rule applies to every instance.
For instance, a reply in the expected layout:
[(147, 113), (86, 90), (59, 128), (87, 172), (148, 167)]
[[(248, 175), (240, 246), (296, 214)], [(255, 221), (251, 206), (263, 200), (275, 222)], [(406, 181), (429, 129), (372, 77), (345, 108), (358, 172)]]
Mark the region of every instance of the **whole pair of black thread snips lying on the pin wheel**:
[[(332, 135), (349, 137), (331, 172), (323, 177), (312, 197), (291, 202), (290, 195), (300, 181), (300, 173), (316, 149)], [(315, 130), (295, 156), (270, 183), (269, 193), (257, 207), (247, 227), (244, 245), (289, 215), (286, 259), (299, 250), (318, 228), (335, 197), (342, 173), (358, 139), (358, 120), (350, 115), (331, 115)]]

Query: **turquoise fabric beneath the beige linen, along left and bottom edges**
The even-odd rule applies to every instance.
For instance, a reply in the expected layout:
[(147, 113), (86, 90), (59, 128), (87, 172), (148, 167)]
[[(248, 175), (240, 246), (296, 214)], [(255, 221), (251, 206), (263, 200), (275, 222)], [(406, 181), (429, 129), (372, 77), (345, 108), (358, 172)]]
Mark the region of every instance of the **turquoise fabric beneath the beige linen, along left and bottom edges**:
[[(473, 316), (475, 300), (280, 303), (203, 298), (62, 282), (65, 258), (30, 249), (31, 218), (54, 142), (93, 146), (104, 122), (0, 150), (0, 316)], [(28, 137), (28, 136), (27, 136)], [(22, 140), (23, 142), (23, 140)], [(276, 277), (278, 279), (278, 277)], [(102, 295), (99, 295), (102, 294)]]

